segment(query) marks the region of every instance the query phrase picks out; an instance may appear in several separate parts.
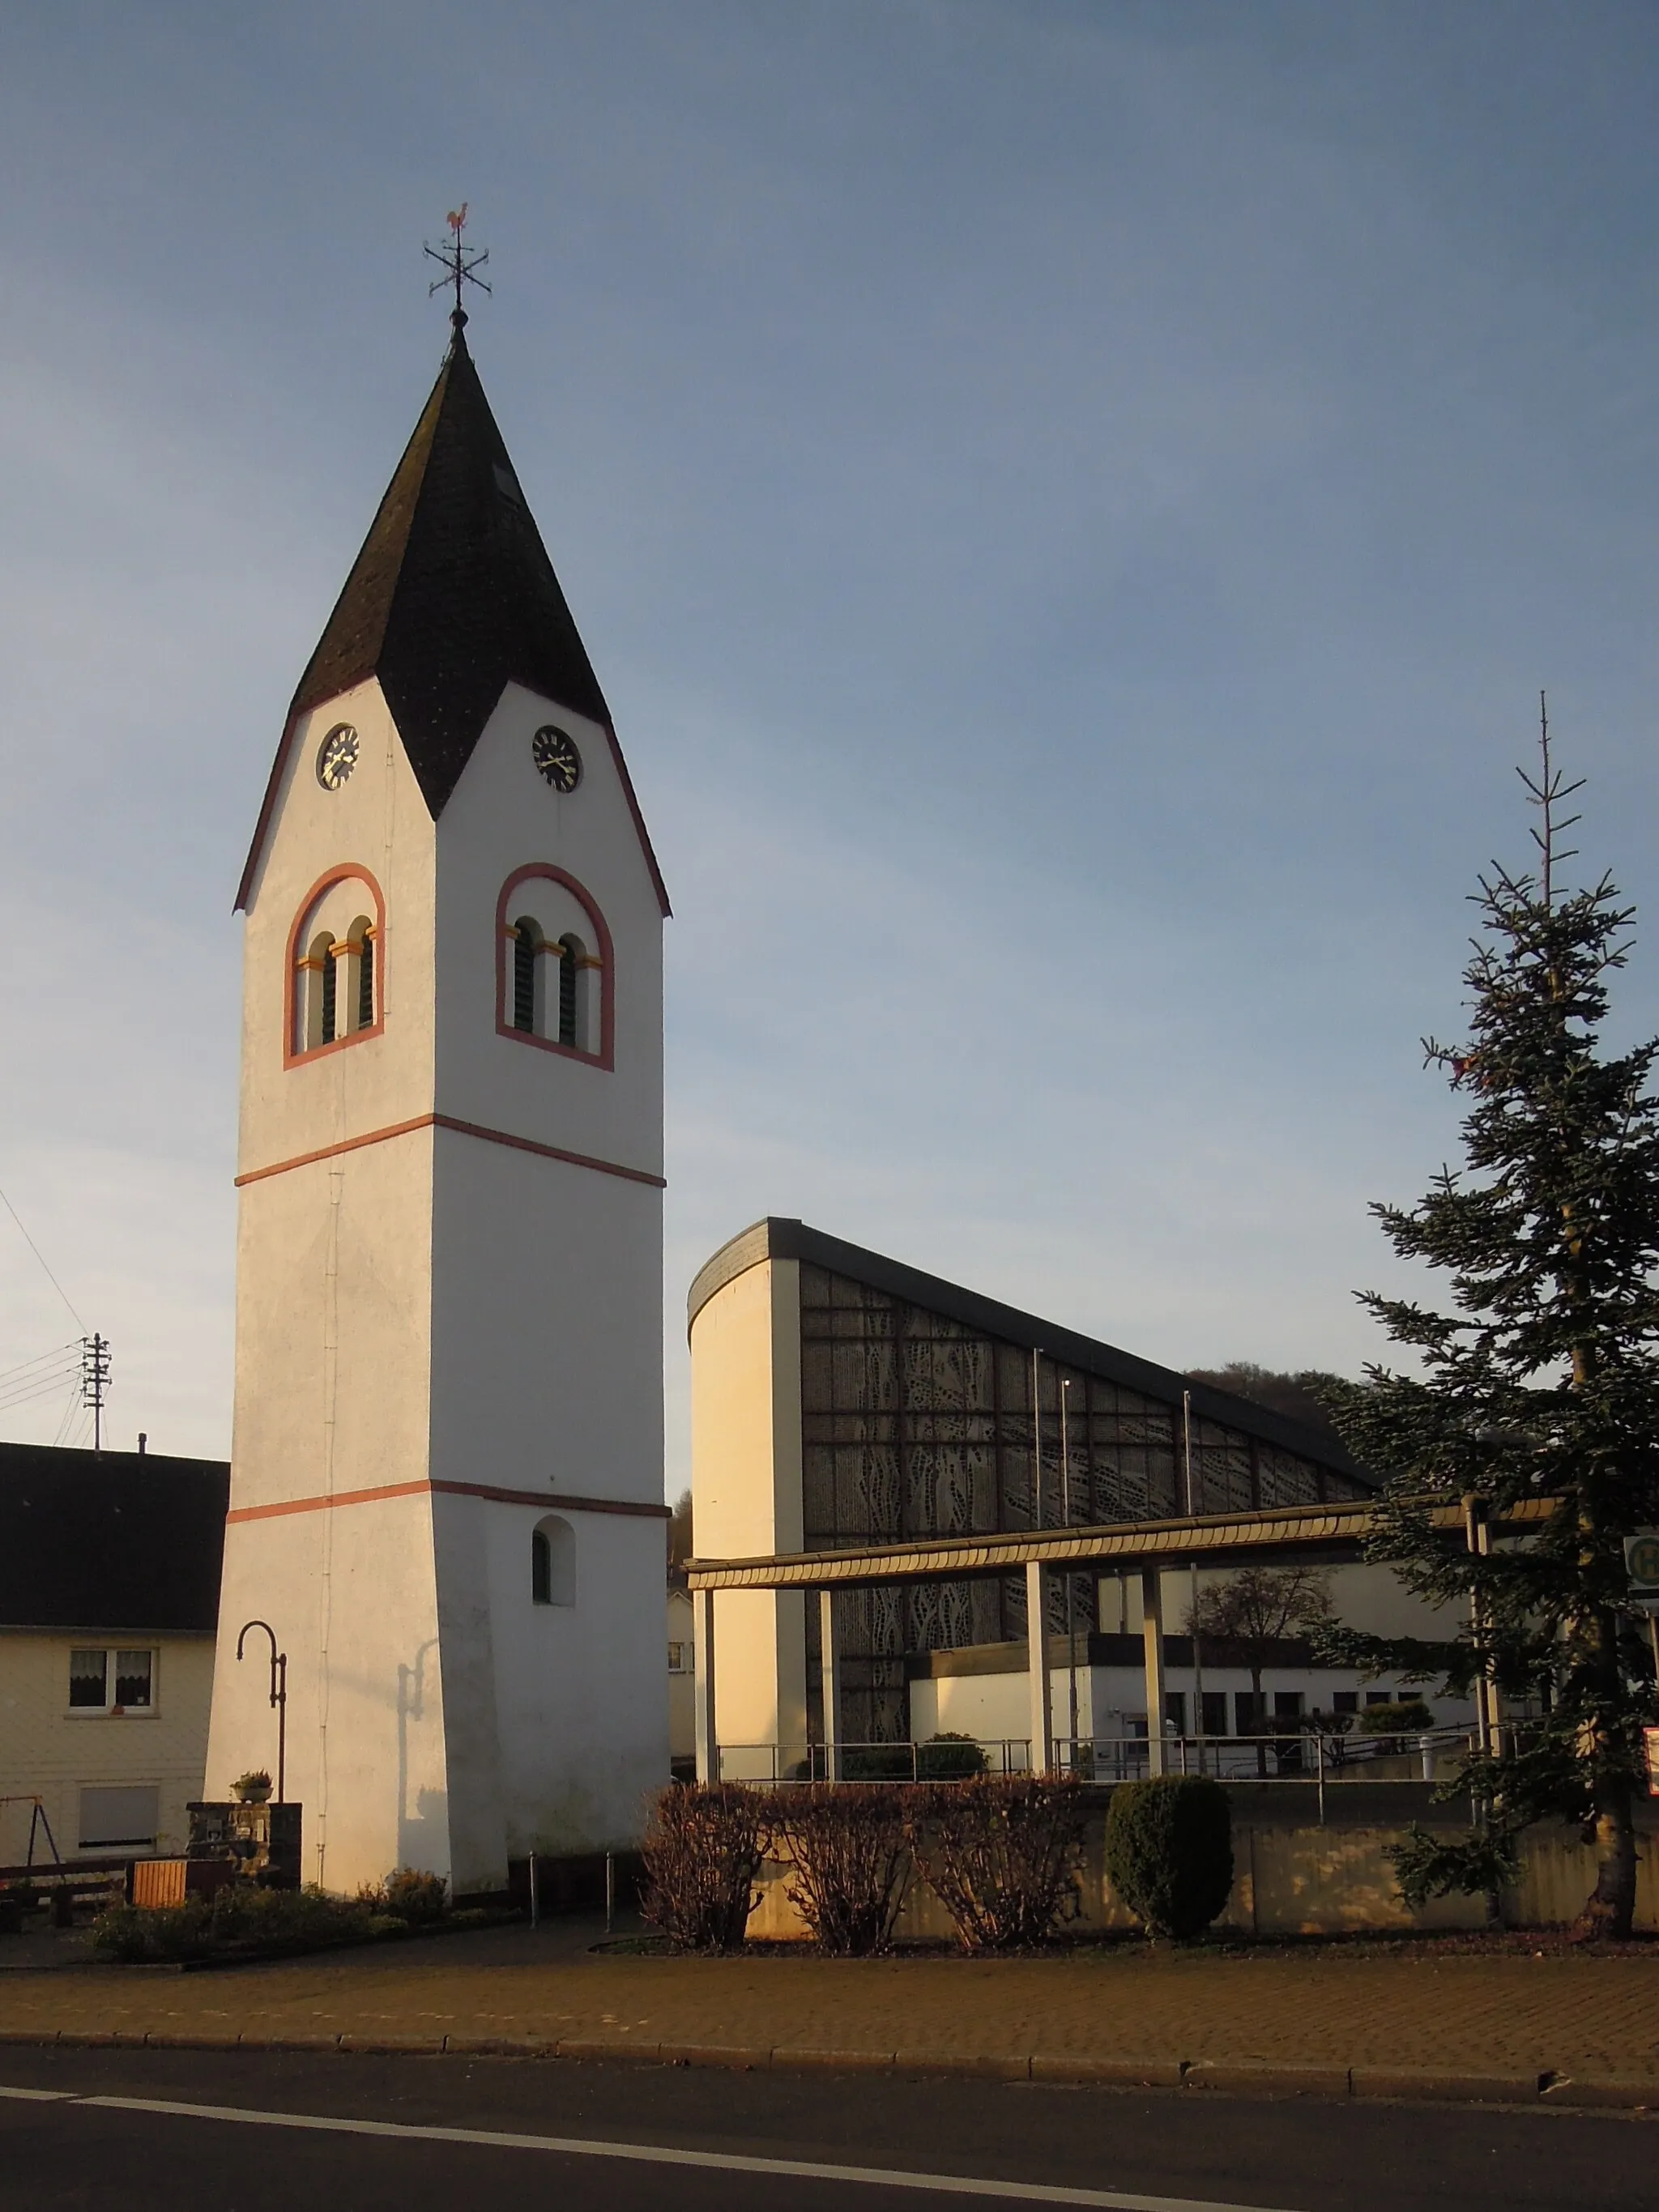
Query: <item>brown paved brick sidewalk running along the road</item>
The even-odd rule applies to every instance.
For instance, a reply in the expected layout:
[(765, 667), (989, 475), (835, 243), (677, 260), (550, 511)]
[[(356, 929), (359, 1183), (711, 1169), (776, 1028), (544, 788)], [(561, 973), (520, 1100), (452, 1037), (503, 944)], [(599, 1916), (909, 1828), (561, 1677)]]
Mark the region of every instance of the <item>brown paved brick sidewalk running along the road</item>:
[(1164, 2062), (1170, 2079), (1181, 2062), (1559, 2075), (1650, 2084), (1659, 2104), (1659, 1958), (1126, 1944), (1022, 1960), (677, 1960), (593, 1953), (595, 1933), (553, 1922), (184, 1975), (7, 1971), (0, 2037), (500, 2037), (785, 2064)]

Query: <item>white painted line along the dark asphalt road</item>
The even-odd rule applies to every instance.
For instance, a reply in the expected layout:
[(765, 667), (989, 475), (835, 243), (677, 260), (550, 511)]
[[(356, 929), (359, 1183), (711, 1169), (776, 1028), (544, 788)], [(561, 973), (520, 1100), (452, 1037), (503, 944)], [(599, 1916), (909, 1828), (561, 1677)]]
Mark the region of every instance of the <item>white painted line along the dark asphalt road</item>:
[(168, 2097), (82, 2097), (64, 2088), (4, 2088), (0, 2097), (95, 2106), (104, 2112), (161, 2112), (173, 2119), (232, 2119), (248, 2128), (312, 2128), (323, 2135), (378, 2135), (403, 2143), (476, 2143), (484, 2150), (551, 2150), (564, 2159), (635, 2159), (644, 2166), (701, 2166), (719, 2174), (776, 2174), (787, 2181), (843, 2181), (936, 2197), (991, 2197), (1002, 2203), (1097, 2205), (1099, 2212), (1274, 2212), (1272, 2205), (1217, 2203), (1208, 2197), (1141, 2197), (1126, 2190), (1062, 2190), (1046, 2181), (980, 2181), (971, 2174), (914, 2174), (885, 2166), (823, 2166), (816, 2159), (745, 2159), (726, 2150), (675, 2150), (668, 2143), (597, 2143), (580, 2135), (507, 2135), (498, 2128), (416, 2128), (396, 2119), (336, 2119), (325, 2112), (259, 2112), (239, 2104), (177, 2104)]

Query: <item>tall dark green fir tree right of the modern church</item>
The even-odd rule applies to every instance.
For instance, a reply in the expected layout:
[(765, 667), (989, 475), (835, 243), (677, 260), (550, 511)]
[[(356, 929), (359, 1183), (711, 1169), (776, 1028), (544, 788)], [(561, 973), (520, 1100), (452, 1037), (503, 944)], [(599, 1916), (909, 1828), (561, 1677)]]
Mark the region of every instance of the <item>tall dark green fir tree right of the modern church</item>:
[(1327, 1391), (1349, 1447), (1391, 1469), (1371, 1555), (1467, 1626), (1444, 1644), (1332, 1630), (1323, 1646), (1475, 1692), (1489, 1723), (1464, 1783), (1482, 1818), (1455, 1840), (1413, 1829), (1396, 1851), (1405, 1896), (1495, 1893), (1520, 1832), (1559, 1818), (1595, 1845), (1577, 1931), (1613, 1938), (1630, 1933), (1641, 1725), (1659, 1717), (1624, 1566), (1624, 1537), (1659, 1522), (1659, 1040), (1599, 1051), (1632, 909), (1606, 876), (1557, 889), (1579, 821), (1562, 805), (1582, 783), (1553, 768), (1546, 719), (1542, 754), (1537, 779), (1522, 770), (1535, 869), (1493, 867), (1471, 894), (1469, 1042), (1425, 1040), (1467, 1099), (1464, 1168), (1411, 1210), (1371, 1208), (1396, 1252), (1447, 1274), (1453, 1310), (1367, 1294), (1420, 1371), (1371, 1367)]

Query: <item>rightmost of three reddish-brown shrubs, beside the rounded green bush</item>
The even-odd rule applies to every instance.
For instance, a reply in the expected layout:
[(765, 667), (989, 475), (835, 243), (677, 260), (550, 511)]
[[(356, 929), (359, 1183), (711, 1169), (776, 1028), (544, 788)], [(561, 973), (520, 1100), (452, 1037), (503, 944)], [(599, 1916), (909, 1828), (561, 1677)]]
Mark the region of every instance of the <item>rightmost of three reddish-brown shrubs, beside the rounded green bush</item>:
[(964, 1951), (1044, 1942), (1077, 1911), (1075, 1781), (982, 1776), (909, 1794), (911, 1854)]

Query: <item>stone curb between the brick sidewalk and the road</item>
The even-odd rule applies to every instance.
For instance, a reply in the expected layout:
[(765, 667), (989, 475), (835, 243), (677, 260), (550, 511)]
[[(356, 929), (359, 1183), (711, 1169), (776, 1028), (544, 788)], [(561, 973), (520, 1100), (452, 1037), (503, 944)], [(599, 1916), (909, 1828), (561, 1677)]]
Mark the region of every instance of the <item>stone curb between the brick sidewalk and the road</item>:
[(960, 2051), (816, 2051), (768, 2044), (648, 2044), (553, 2035), (261, 2035), (142, 2028), (0, 2028), (0, 2046), (58, 2051), (270, 2051), (347, 2057), (564, 2059), (606, 2066), (708, 2066), (728, 2073), (945, 2075), (958, 2081), (1037, 2081), (1071, 2088), (1179, 2088), (1212, 2097), (1321, 2097), (1398, 2104), (1506, 2104), (1564, 2110), (1659, 2110), (1659, 2081), (1615, 2075), (1436, 2073), (1409, 2066), (1281, 2066), (1272, 2059), (1024, 2057)]

